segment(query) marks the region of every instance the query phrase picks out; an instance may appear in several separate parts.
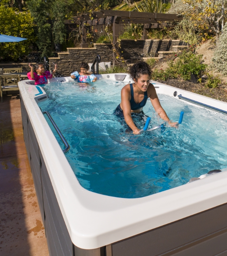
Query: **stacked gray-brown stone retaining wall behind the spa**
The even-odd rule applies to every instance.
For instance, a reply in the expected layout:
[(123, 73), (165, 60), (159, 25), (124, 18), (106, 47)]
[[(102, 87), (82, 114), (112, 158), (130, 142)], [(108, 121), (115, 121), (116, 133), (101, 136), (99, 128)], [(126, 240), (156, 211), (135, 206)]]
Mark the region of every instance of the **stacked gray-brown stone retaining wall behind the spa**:
[[(158, 51), (172, 51), (173, 46), (186, 45), (180, 40), (121, 40), (122, 57), (130, 63), (131, 57), (146, 57), (146, 54)], [(111, 43), (95, 43), (94, 48), (67, 48), (67, 52), (58, 52), (58, 57), (49, 58), (50, 69), (58, 65), (58, 74), (69, 76), (73, 71), (79, 71), (82, 61), (93, 63), (97, 54), (101, 61), (113, 61)], [(0, 63), (0, 68), (22, 67), (23, 72), (29, 72), (28, 63)]]

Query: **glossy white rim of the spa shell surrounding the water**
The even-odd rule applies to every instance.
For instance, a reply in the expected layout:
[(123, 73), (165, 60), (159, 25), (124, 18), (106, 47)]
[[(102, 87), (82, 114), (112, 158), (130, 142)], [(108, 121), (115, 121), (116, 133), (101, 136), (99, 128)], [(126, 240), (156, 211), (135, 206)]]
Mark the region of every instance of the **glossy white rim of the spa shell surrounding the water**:
[[(97, 77), (115, 80), (115, 74)], [(61, 77), (49, 79), (49, 82), (69, 80), (72, 79)], [(128, 74), (124, 81), (130, 81)], [(18, 85), (61, 213), (71, 240), (77, 247), (95, 249), (227, 203), (226, 170), (143, 198), (110, 197), (83, 188), (37, 104), (37, 99), (46, 94), (40, 87), (43, 94), (34, 96), (38, 90), (33, 83), (24, 80)], [(186, 98), (227, 111), (227, 103), (154, 83), (155, 87), (159, 87), (156, 88), (157, 94), (174, 97), (173, 93), (177, 91), (177, 95), (182, 94)]]

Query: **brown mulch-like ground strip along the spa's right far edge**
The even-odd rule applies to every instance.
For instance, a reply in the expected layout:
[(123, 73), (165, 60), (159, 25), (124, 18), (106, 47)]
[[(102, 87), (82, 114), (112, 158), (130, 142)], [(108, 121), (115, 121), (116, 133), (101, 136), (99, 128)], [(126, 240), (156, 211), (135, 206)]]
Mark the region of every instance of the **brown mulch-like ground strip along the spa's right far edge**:
[(216, 100), (227, 102), (227, 88), (225, 84), (221, 85), (219, 88), (206, 88), (205, 83), (194, 84), (190, 81), (184, 81), (184, 80), (178, 80), (178, 79), (170, 79), (170, 80), (158, 81), (158, 82), (171, 85), (173, 87), (183, 89), (189, 92), (201, 94)]

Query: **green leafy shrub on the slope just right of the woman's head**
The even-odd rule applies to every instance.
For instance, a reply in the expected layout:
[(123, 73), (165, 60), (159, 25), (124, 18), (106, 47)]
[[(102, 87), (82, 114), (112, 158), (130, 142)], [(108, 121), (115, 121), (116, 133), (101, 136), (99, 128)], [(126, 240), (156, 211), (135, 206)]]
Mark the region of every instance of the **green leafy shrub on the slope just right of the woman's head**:
[(191, 79), (191, 73), (199, 76), (200, 71), (204, 71), (207, 67), (202, 63), (202, 55), (196, 55), (193, 51), (184, 50), (175, 61), (168, 63), (169, 67), (164, 70), (155, 70), (152, 73), (153, 80), (167, 80), (168, 78), (182, 78), (184, 80)]

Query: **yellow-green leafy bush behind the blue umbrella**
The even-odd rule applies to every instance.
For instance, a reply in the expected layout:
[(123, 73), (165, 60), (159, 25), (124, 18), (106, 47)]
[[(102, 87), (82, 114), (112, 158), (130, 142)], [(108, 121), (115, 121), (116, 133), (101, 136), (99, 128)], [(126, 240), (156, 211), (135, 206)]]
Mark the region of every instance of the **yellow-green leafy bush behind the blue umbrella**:
[(31, 51), (35, 41), (33, 19), (29, 11), (19, 12), (15, 7), (0, 3), (0, 33), (3, 35), (28, 38), (22, 42), (0, 43), (1, 59), (17, 60)]

